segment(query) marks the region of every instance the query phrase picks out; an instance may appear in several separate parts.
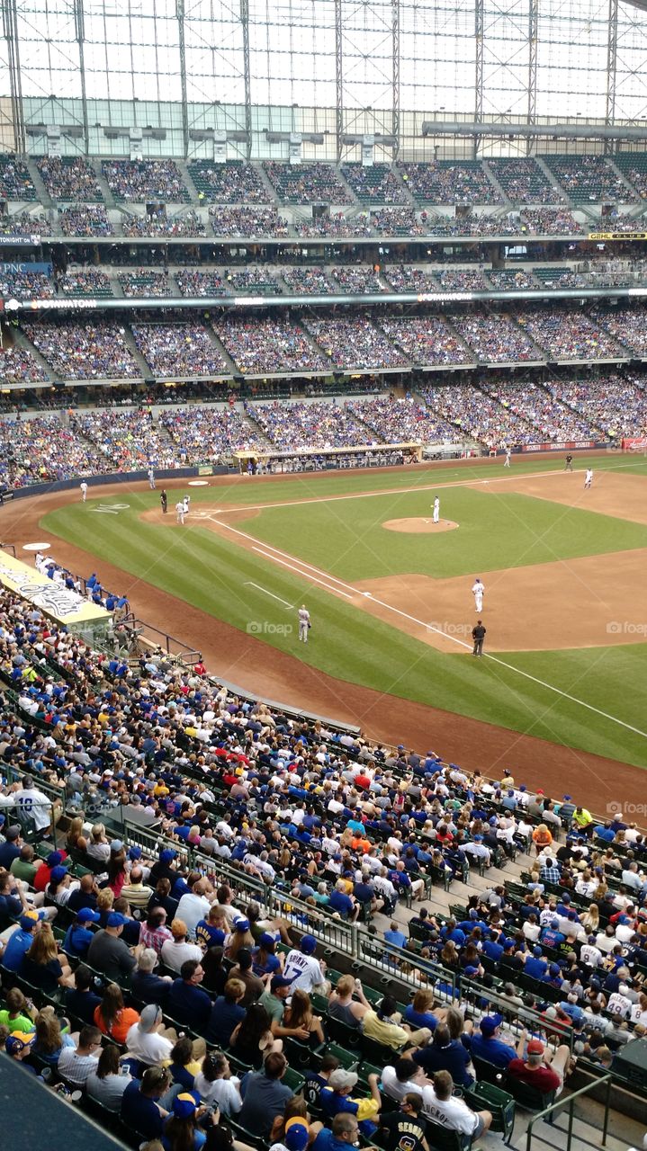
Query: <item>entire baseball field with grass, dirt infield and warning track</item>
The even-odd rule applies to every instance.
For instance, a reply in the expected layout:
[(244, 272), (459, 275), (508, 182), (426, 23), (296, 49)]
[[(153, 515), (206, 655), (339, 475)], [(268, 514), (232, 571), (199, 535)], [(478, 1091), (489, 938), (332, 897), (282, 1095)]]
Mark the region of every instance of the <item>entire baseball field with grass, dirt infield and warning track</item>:
[[(3, 538), (18, 549), (50, 540), (55, 559), (96, 570), (223, 678), (378, 738), (409, 742), (409, 716), (426, 745), (444, 735), (439, 749), (457, 762), (469, 732), (463, 762), (490, 770), (523, 763), (528, 738), (557, 779), (565, 762), (592, 780), (608, 779), (603, 762), (646, 765), (642, 457), (577, 457), (572, 472), (563, 458), (516, 457), (511, 468), (460, 462), (201, 485), (169, 485), (167, 514), (147, 485), (91, 488), (85, 504), (78, 491), (21, 501), (5, 509)], [(191, 496), (184, 526), (181, 494)], [(471, 654), (477, 576), (481, 660)]]

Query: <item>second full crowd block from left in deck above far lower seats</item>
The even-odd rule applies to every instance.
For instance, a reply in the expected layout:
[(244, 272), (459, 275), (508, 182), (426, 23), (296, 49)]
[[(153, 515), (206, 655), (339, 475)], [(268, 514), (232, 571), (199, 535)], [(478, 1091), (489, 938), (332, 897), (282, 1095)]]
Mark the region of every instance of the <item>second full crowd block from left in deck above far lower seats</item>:
[(134, 323), (132, 335), (151, 372), (162, 379), (223, 375), (226, 363), (201, 323)]

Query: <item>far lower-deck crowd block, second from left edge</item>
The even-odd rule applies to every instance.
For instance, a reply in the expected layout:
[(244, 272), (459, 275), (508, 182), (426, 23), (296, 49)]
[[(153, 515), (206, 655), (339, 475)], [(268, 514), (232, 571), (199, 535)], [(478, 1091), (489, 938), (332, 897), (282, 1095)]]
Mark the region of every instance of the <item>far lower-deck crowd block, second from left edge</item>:
[(100, 453), (98, 472), (146, 471), (150, 466), (177, 467), (172, 445), (146, 407), (135, 411), (73, 412), (70, 428), (91, 441)]

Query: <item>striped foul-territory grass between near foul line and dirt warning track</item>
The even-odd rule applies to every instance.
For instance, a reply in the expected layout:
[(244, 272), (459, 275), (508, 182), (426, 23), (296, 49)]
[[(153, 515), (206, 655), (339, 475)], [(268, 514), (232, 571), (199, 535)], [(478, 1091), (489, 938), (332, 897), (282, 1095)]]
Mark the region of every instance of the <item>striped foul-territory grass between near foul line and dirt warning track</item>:
[[(283, 620), (262, 593), (244, 587), (248, 580), (289, 602), (306, 599), (314, 620), (307, 648), (283, 634), (266, 633), (262, 639), (332, 676), (586, 750), (604, 747), (603, 754), (644, 763), (642, 742), (632, 733), (610, 734), (608, 722), (601, 725), (601, 717), (588, 712), (584, 722), (577, 706), (556, 704), (553, 693), (520, 680), (512, 670), (495, 672), (487, 661), (477, 664), (437, 653), (208, 531), (173, 532), (177, 540), (169, 544), (167, 529), (143, 524), (132, 513), (120, 516), (119, 524), (116, 517), (99, 516), (89, 523), (75, 505), (51, 513), (44, 526), (242, 630), (250, 618)], [(170, 631), (178, 630), (174, 623), (168, 624)], [(542, 678), (553, 681), (550, 674)], [(546, 709), (548, 717), (541, 718)]]

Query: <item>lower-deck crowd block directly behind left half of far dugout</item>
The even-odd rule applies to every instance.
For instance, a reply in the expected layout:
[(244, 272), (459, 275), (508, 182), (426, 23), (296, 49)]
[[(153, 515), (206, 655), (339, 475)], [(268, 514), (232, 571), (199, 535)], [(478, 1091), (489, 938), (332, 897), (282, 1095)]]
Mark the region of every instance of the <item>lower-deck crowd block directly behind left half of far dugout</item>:
[(332, 401), (284, 404), (245, 404), (251, 419), (277, 448), (287, 451), (311, 448), (348, 448), (370, 442), (349, 404)]

